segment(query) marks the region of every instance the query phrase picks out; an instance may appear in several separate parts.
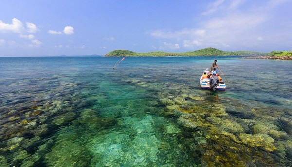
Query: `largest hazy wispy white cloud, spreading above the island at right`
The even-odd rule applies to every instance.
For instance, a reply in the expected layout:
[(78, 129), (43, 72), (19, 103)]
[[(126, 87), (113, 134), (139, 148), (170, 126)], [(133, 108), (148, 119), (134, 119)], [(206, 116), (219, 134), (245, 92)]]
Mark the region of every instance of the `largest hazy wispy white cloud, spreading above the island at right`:
[[(176, 43), (186, 48), (202, 46), (240, 50), (251, 48), (251, 46), (256, 48), (259, 47), (258, 41), (263, 39), (266, 43), (269, 39), (269, 43), (272, 44), (275, 40), (279, 41), (279, 35), (282, 36), (282, 41), (291, 36), (289, 35), (291, 29), (289, 31), (288, 28), (291, 21), (284, 24), (286, 27), (279, 27), (285, 33), (281, 33), (280, 30), (274, 31), (273, 27), (269, 27), (269, 25), (275, 25), (272, 21), (276, 18), (274, 13), (280, 7), (279, 5), (284, 5), (284, 2), (288, 0), (270, 0), (261, 2), (259, 6), (257, 1), (217, 0), (209, 5), (207, 12), (201, 13), (201, 17), (197, 19), (193, 28), (182, 28), (177, 31), (160, 29), (153, 31), (150, 35), (161, 39), (176, 39)], [(258, 37), (258, 34), (264, 36)]]

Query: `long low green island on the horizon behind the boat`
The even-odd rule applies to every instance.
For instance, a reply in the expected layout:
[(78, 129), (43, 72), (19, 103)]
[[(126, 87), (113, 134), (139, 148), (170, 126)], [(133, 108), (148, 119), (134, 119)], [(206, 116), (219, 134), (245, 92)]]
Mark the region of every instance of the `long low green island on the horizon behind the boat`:
[(110, 56), (128, 56), (128, 57), (159, 57), (159, 56), (245, 56), (245, 55), (253, 55), (253, 56), (263, 56), (265, 53), (252, 52), (252, 51), (222, 51), (216, 48), (205, 48), (196, 51), (189, 51), (184, 53), (169, 53), (163, 51), (154, 51), (148, 53), (136, 53), (129, 50), (114, 50), (110, 53), (106, 54), (106, 57)]

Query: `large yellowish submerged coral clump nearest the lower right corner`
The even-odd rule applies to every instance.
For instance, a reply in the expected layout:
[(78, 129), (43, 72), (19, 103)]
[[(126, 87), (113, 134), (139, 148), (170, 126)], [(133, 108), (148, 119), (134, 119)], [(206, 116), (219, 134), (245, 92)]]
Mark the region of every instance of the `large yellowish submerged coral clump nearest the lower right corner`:
[(276, 150), (276, 147), (274, 146), (274, 139), (267, 134), (252, 135), (241, 133), (238, 137), (243, 144), (250, 147), (261, 147), (268, 152)]

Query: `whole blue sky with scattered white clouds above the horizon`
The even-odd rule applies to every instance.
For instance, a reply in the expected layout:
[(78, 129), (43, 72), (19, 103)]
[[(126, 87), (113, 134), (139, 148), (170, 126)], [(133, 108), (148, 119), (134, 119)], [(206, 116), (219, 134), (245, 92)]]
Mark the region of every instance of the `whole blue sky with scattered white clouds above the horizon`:
[(292, 50), (292, 0), (0, 0), (0, 56)]

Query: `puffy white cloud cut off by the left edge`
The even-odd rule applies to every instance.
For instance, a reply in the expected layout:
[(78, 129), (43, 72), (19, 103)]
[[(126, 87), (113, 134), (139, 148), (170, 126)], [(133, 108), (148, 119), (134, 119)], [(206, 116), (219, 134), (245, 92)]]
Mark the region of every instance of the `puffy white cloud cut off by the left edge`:
[(12, 32), (12, 33), (22, 33), (24, 32), (24, 26), (22, 22), (16, 18), (12, 19), (12, 24), (4, 23), (0, 20), (0, 31), (3, 33)]

